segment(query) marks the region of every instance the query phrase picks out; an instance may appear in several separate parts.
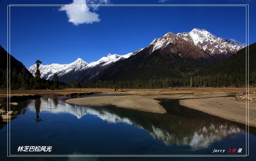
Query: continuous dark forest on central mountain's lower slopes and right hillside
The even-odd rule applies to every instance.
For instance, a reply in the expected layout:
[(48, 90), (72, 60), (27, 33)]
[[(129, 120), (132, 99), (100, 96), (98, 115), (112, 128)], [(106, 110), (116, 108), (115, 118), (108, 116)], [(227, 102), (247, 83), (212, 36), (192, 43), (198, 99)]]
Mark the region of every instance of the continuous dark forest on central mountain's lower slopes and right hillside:
[[(250, 85), (256, 83), (256, 43), (212, 64), (210, 62), (214, 59), (181, 59), (179, 53), (163, 53), (159, 50), (149, 55), (147, 50), (144, 49), (127, 60), (115, 63), (112, 67), (104, 70), (94, 80), (97, 81), (96, 86), (129, 88), (220, 87), (245, 85), (248, 79)], [(249, 68), (247, 64), (247, 70), (246, 59), (249, 64)], [(207, 64), (210, 65), (206, 66)], [(246, 72), (249, 73), (249, 78), (246, 78)], [(194, 74), (185, 76), (188, 73)]]

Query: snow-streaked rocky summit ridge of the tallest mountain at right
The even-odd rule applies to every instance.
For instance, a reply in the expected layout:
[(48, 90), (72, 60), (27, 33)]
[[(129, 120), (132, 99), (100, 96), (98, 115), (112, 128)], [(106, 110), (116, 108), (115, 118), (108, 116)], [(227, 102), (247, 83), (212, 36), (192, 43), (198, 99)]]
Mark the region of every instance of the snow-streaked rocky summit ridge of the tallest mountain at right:
[(169, 43), (179, 43), (184, 44), (185, 42), (180, 41), (180, 39), (185, 40), (185, 42), (195, 45), (210, 55), (214, 54), (227, 54), (227, 53), (236, 53), (240, 49), (246, 46), (246, 44), (240, 43), (234, 39), (223, 39), (222, 37), (217, 37), (205, 29), (194, 28), (190, 32), (183, 32), (178, 34), (173, 34), (171, 32), (165, 34), (159, 39), (154, 39), (149, 46), (153, 46), (153, 50), (163, 49)]

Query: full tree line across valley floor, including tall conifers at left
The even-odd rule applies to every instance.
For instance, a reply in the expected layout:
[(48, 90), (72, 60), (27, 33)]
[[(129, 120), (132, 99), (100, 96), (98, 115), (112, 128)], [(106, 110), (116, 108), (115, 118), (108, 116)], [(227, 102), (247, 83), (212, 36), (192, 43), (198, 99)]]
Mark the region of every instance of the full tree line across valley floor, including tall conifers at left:
[[(54, 75), (53, 80), (44, 80), (38, 74), (29, 76), (25, 72), (25, 66), (22, 67), (21, 72), (17, 73), (14, 68), (13, 71), (0, 69), (0, 85), (6, 88), (9, 84), (7, 78), (10, 78), (9, 88), (11, 90), (17, 89), (64, 89), (64, 88), (167, 88), (167, 87), (222, 87), (222, 86), (242, 86), (246, 83), (245, 73), (237, 74), (213, 74), (213, 75), (192, 75), (186, 78), (160, 78), (149, 80), (119, 80), (119, 81), (101, 81), (80, 83), (71, 81), (69, 83), (61, 83), (58, 80), (57, 74)], [(7, 75), (7, 73), (9, 75)], [(9, 79), (8, 79), (9, 80)], [(249, 84), (256, 84), (256, 72), (251, 72), (249, 75)]]

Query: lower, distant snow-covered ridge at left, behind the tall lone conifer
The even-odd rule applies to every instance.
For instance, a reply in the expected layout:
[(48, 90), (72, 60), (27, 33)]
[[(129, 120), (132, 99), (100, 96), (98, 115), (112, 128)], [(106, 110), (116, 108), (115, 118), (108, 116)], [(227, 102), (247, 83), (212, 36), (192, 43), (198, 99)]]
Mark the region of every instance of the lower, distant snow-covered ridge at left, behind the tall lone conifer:
[[(71, 75), (72, 73), (83, 71), (86, 69), (96, 68), (96, 67), (107, 67), (108, 65), (126, 59), (131, 56), (132, 53), (128, 53), (126, 55), (111, 55), (108, 54), (107, 57), (102, 57), (100, 60), (96, 62), (91, 62), (88, 64), (81, 58), (78, 58), (75, 62), (70, 64), (50, 64), (50, 65), (40, 65), (39, 70), (41, 74), (41, 78), (46, 80), (52, 80), (55, 73), (57, 73), (58, 77), (61, 78), (64, 75)], [(28, 71), (35, 76), (36, 73), (36, 64), (30, 66)]]

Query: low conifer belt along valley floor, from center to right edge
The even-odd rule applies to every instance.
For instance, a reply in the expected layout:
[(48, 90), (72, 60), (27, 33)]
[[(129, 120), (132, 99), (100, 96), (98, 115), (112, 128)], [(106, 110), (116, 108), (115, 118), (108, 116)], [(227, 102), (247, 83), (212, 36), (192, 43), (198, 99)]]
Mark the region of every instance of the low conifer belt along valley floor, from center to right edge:
[[(256, 72), (251, 73), (249, 84), (256, 83)], [(167, 88), (167, 87), (228, 87), (243, 86), (246, 84), (245, 73), (237, 74), (213, 74), (213, 75), (192, 75), (186, 78), (165, 78), (149, 80), (119, 80), (119, 81), (101, 81), (80, 83), (71, 81), (67, 88)]]

